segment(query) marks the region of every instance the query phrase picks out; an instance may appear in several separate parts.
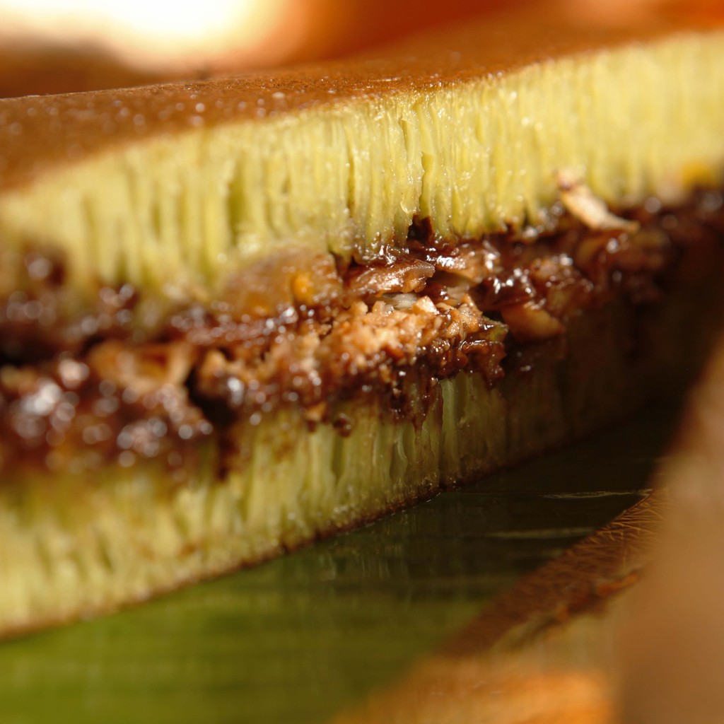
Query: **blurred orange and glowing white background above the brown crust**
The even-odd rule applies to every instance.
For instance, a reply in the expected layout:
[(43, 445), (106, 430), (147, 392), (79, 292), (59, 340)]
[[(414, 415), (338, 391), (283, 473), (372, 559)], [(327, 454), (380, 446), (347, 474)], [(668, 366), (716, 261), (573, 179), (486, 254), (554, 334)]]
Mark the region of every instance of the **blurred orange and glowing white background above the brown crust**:
[(590, 22), (721, 14), (720, 0), (0, 0), (0, 96), (195, 80), (340, 58), (538, 4)]

